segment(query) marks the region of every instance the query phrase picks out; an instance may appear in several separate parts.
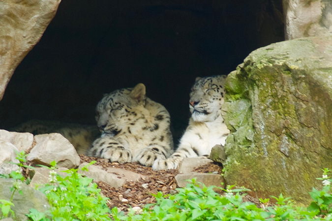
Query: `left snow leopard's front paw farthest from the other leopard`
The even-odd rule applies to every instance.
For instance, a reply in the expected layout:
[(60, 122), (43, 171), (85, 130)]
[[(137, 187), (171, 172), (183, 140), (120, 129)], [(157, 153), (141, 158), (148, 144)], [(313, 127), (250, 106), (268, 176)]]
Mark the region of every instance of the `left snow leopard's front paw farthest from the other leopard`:
[(109, 159), (110, 162), (132, 162), (132, 154), (115, 138), (98, 138), (92, 143), (88, 156)]

